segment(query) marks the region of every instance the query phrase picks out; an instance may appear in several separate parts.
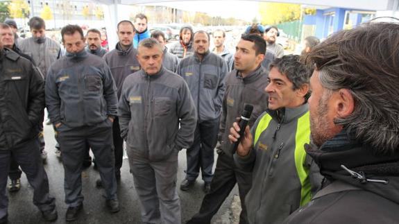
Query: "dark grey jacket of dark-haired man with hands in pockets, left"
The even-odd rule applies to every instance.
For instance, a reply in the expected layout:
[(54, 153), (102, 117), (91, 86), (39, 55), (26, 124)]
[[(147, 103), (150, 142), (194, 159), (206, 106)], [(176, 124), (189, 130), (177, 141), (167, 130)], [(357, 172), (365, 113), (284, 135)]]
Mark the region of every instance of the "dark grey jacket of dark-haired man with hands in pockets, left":
[(117, 94), (110, 68), (84, 49), (51, 65), (46, 77), (46, 105), (53, 124), (94, 126), (117, 116)]

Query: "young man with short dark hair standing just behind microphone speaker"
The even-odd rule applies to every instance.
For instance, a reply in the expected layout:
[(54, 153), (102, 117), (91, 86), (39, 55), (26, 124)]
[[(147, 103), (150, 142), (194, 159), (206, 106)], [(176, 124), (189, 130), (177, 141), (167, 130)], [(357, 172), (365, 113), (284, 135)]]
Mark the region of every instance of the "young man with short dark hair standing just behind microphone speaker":
[[(199, 212), (187, 224), (210, 223), (230, 191), (238, 184), (241, 199), (239, 223), (248, 223), (246, 217), (245, 196), (251, 189), (252, 173), (242, 171), (232, 157), (232, 144), (228, 141), (230, 126), (240, 116), (246, 104), (253, 105), (253, 112), (248, 121), (253, 126), (257, 117), (267, 109), (267, 94), (264, 88), (269, 84), (268, 71), (261, 66), (266, 51), (266, 42), (259, 35), (244, 35), (239, 40), (235, 51), (235, 70), (226, 79), (226, 94), (223, 98), (221, 124), (219, 128), (218, 159), (210, 192), (205, 195)], [(226, 130), (227, 127), (227, 130)]]

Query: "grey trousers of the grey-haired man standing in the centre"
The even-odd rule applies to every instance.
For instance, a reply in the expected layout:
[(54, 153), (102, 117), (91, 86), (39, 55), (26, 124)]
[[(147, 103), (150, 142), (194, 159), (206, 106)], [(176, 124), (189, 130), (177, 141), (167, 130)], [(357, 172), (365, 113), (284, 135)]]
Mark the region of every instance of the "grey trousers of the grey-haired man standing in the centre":
[(180, 199), (176, 190), (178, 152), (174, 151), (166, 160), (149, 161), (127, 149), (141, 203), (142, 223), (180, 224)]

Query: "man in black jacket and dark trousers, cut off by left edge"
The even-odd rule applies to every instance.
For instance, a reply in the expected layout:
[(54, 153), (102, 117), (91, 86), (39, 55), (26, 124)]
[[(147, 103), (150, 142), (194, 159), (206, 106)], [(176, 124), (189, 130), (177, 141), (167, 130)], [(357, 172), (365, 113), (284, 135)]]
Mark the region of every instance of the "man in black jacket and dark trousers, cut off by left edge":
[[(6, 24), (0, 26), (0, 223), (8, 222), (6, 186), (12, 160), (26, 173), (33, 188), (33, 204), (40, 209), (44, 220), (55, 221), (56, 203), (49, 196), (49, 180), (37, 139), (44, 116), (43, 77), (31, 61), (3, 48), (3, 40), (8, 46), (13, 45), (10, 40), (14, 35)], [(20, 206), (24, 205), (16, 207)]]

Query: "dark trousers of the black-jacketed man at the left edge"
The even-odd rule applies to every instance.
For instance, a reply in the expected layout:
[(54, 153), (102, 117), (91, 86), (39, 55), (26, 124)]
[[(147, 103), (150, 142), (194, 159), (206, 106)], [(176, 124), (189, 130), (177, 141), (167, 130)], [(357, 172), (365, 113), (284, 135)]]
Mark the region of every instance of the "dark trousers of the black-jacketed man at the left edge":
[[(12, 153), (11, 153), (12, 152)], [(37, 138), (19, 144), (14, 148), (0, 150), (0, 218), (8, 214), (8, 198), (6, 194), (7, 175), (11, 158), (15, 159), (26, 174), (33, 187), (33, 204), (40, 211), (52, 210), (56, 207), (54, 198), (49, 196), (49, 180), (44, 171), (40, 156), (40, 142)]]

